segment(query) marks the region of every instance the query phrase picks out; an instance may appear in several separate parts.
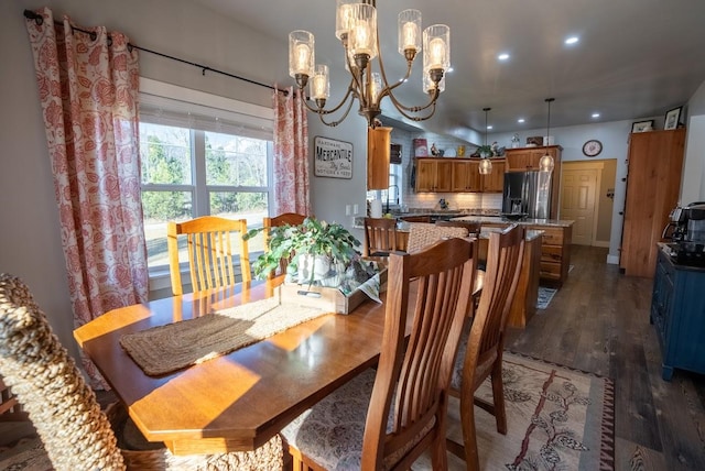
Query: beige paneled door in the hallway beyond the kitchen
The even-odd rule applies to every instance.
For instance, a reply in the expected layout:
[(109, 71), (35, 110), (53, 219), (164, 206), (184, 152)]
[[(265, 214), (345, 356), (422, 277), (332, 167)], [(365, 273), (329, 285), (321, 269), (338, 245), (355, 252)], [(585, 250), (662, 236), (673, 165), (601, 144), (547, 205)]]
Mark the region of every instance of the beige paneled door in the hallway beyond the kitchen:
[(597, 201), (596, 169), (564, 169), (561, 194), (561, 219), (572, 219), (573, 243), (592, 245)]

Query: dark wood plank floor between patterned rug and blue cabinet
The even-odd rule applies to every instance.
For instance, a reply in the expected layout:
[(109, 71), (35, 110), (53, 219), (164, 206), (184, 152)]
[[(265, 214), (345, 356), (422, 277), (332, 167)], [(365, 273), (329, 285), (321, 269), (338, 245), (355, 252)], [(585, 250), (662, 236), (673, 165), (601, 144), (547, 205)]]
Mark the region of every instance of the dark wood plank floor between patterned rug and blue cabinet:
[(661, 379), (652, 281), (606, 264), (607, 249), (573, 245), (571, 258), (566, 283), (507, 348), (615, 381), (617, 470), (705, 470), (705, 376)]

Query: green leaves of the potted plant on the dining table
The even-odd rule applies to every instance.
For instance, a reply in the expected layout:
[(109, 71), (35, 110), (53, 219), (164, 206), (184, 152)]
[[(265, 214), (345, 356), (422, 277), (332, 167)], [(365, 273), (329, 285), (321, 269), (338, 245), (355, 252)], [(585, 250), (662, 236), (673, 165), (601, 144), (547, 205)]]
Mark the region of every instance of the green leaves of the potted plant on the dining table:
[[(243, 238), (250, 239), (264, 229), (252, 229)], [(290, 260), (289, 273), (299, 270), (297, 255), (323, 255), (346, 266), (357, 256), (356, 247), (360, 245), (347, 229), (337, 222), (328, 223), (315, 218), (306, 218), (300, 226), (278, 226), (270, 229), (269, 250), (252, 264), (254, 276), (265, 278), (279, 267), (279, 261)]]

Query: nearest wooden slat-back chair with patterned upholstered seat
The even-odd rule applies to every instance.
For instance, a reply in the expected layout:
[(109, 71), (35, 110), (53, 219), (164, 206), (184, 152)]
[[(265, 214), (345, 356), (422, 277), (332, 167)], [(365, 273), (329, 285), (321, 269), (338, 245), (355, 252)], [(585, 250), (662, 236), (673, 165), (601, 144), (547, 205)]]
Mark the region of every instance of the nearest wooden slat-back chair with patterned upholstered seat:
[(470, 302), (473, 245), (451, 239), (389, 255), (377, 371), (365, 370), (282, 430), (293, 469), (406, 470), (426, 450), (434, 470), (447, 469), (448, 384)]

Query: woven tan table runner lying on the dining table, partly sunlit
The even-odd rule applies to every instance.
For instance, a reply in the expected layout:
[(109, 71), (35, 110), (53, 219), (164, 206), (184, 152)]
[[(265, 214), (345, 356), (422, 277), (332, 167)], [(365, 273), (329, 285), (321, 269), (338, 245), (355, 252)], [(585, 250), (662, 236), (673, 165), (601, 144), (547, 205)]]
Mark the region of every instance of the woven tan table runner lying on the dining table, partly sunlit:
[(120, 344), (147, 374), (161, 376), (228, 354), (328, 313), (316, 307), (282, 304), (273, 297), (126, 333)]

